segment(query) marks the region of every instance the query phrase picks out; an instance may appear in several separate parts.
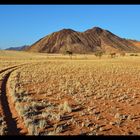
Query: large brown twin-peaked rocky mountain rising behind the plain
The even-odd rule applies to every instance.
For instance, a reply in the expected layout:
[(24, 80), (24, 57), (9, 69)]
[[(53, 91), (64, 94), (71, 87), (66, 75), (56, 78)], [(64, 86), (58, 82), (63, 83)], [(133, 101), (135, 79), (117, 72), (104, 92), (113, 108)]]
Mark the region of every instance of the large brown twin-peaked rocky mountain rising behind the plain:
[(26, 50), (30, 52), (91, 53), (97, 50), (105, 52), (140, 52), (140, 42), (116, 36), (108, 30), (94, 27), (85, 32), (62, 29), (47, 35)]

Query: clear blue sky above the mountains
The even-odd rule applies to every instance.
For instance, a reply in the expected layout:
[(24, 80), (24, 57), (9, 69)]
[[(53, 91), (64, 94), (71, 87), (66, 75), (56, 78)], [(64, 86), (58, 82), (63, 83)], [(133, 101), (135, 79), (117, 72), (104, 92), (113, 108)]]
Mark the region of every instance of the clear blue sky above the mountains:
[(95, 26), (140, 40), (140, 5), (0, 5), (0, 48), (31, 45), (63, 28)]

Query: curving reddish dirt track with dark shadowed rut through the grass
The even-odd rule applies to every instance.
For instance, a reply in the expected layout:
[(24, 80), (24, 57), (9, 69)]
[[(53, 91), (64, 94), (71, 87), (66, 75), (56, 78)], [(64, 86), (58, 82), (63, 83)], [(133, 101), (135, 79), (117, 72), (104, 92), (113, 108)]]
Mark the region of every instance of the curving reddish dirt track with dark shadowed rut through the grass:
[(10, 74), (17, 68), (19, 68), (19, 66), (9, 67), (0, 71), (0, 74), (2, 74), (3, 72), (6, 73), (3, 77), (2, 82), (0, 83), (2, 93), (0, 99), (3, 112), (2, 114), (4, 115), (4, 120), (6, 121), (7, 125), (6, 135), (25, 135), (27, 133), (27, 130), (22, 130), (24, 129), (23, 120), (21, 119), (21, 117), (19, 117), (14, 107), (14, 103), (11, 99), (11, 96), (9, 95), (7, 87), (7, 81)]

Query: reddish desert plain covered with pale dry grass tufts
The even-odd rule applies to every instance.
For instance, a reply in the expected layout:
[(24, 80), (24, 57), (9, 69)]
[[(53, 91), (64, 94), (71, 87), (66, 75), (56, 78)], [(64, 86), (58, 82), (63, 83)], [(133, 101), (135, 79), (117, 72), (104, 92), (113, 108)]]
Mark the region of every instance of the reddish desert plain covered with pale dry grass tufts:
[(140, 54), (0, 51), (0, 135), (139, 135)]

